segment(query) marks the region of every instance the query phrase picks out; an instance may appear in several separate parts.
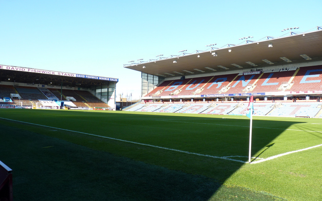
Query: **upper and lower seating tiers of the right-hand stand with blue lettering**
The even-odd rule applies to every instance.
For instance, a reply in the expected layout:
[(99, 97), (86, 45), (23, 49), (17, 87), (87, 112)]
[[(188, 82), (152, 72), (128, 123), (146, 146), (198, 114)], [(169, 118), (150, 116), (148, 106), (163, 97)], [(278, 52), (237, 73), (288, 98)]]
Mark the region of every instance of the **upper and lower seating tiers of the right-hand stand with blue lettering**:
[[(153, 89), (145, 97), (155, 96), (194, 96), (211, 94), (242, 94), (242, 93), (279, 93), (283, 91), (322, 90), (322, 66), (291, 67), (248, 72), (247, 74), (227, 74), (185, 78), (184, 80), (166, 80)], [(262, 97), (263, 98), (263, 97)], [(284, 97), (285, 98), (285, 97)], [(304, 97), (305, 98), (305, 97)], [(254, 102), (254, 115), (322, 117), (319, 100), (306, 100), (289, 97)], [(245, 115), (248, 101), (200, 101), (177, 98), (175, 102), (141, 103), (128, 111), (195, 113), (195, 114), (230, 114)], [(208, 99), (209, 100), (209, 99)], [(211, 99), (213, 100), (213, 98)], [(218, 99), (217, 99), (218, 100)], [(241, 99), (239, 99), (241, 100)]]

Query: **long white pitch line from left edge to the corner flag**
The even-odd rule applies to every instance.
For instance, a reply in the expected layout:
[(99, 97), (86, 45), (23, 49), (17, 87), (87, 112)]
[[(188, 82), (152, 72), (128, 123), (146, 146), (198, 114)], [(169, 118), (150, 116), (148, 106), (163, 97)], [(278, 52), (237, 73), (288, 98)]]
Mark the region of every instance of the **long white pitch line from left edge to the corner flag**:
[[(230, 158), (227, 158), (227, 157), (211, 156), (211, 155), (207, 155), (207, 154), (200, 154), (200, 153), (194, 153), (194, 152), (189, 152), (189, 151), (182, 151), (182, 150), (177, 150), (177, 149), (171, 149), (171, 148), (166, 148), (166, 147), (155, 146), (155, 145), (151, 145), (151, 144), (143, 144), (143, 143), (139, 143), (139, 142), (121, 140), (121, 139), (117, 139), (117, 138), (111, 138), (111, 137), (106, 137), (106, 136), (101, 136), (101, 135), (95, 135), (95, 134), (90, 134), (90, 133), (86, 133), (86, 132), (72, 131), (72, 130), (63, 129), (63, 128), (56, 128), (56, 127), (52, 127), (52, 126), (45, 126), (45, 125), (41, 125), (41, 124), (23, 122), (23, 121), (7, 119), (7, 118), (2, 118), (2, 117), (0, 117), (0, 119), (10, 120), (10, 121), (15, 121), (15, 122), (20, 122), (20, 123), (28, 123), (28, 124), (32, 124), (32, 125), (43, 126), (43, 127), (47, 127), (47, 128), (54, 128), (54, 129), (59, 129), (59, 130), (63, 130), (63, 131), (77, 132), (77, 133), (82, 133), (82, 134), (85, 134), (85, 135), (92, 135), (92, 136), (96, 136), (96, 137), (107, 138), (107, 139), (111, 139), (111, 140), (117, 140), (117, 141), (121, 141), (121, 142), (133, 143), (133, 144), (139, 144), (139, 145), (144, 145), (144, 146), (149, 146), (149, 147), (154, 147), (154, 148), (159, 148), (159, 149), (165, 149), (165, 150), (170, 150), (170, 151), (177, 151), (177, 152), (181, 152), (181, 153), (193, 154), (193, 155), (197, 155), (197, 156), (204, 156), (204, 157), (211, 157), (211, 158), (215, 158), (215, 159), (232, 160), (232, 161), (246, 163), (246, 161), (230, 159)], [(234, 157), (234, 156), (229, 156), (229, 157)], [(239, 156), (235, 156), (235, 157), (239, 157)]]

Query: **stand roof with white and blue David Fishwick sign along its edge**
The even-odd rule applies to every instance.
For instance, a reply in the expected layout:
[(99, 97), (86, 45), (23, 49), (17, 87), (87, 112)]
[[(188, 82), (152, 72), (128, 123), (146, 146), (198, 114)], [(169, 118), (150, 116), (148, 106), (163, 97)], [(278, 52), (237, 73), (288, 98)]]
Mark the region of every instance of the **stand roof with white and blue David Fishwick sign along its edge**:
[(107, 86), (110, 82), (118, 82), (118, 78), (0, 65), (0, 81), (90, 88)]

